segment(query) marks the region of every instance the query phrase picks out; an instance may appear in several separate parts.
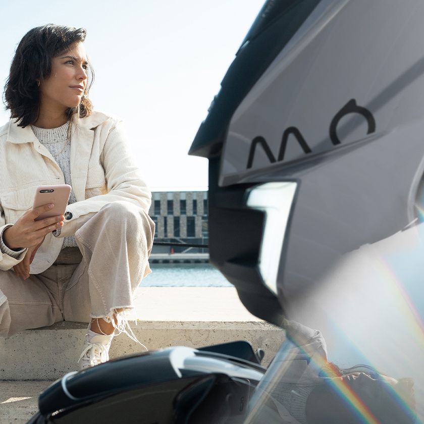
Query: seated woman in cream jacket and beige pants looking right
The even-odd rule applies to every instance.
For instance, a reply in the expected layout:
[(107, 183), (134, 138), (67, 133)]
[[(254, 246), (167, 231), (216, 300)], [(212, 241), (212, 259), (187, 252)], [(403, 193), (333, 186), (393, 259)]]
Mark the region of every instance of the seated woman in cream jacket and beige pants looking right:
[[(121, 121), (92, 111), (85, 35), (49, 24), (22, 38), (0, 129), (0, 335), (90, 322), (81, 368), (109, 359), (115, 330), (128, 334), (154, 234)], [(35, 221), (51, 207), (31, 209), (35, 189), (50, 184), (72, 186), (66, 213)]]

